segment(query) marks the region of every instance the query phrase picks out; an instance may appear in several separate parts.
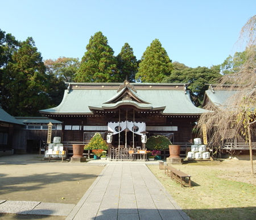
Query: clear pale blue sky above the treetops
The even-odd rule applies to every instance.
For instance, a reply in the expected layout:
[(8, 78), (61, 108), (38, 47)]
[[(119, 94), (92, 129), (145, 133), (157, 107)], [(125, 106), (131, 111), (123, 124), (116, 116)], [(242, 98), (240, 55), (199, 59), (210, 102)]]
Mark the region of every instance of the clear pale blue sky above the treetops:
[(80, 60), (97, 31), (117, 55), (126, 42), (139, 60), (159, 39), (172, 61), (187, 66), (221, 64), (242, 26), (255, 15), (256, 1), (1, 1), (0, 28), (18, 40), (33, 37), (44, 60)]

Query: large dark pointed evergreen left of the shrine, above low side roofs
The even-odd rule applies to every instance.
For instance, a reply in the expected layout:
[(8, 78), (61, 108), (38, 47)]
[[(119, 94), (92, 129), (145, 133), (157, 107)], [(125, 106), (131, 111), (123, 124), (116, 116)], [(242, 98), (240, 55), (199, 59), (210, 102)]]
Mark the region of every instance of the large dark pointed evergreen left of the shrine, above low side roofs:
[(49, 104), (46, 67), (32, 37), (20, 44), (3, 73), (3, 107), (15, 116), (35, 116)]

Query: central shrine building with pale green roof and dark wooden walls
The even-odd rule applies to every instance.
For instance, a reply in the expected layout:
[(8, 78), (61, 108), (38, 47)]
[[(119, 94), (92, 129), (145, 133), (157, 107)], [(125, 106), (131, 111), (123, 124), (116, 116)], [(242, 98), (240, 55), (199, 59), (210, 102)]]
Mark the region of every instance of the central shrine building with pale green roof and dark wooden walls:
[(141, 135), (164, 135), (191, 145), (192, 128), (206, 110), (193, 105), (184, 83), (68, 83), (61, 103), (40, 110), (62, 121), (62, 141), (87, 143), (94, 133), (112, 147), (142, 147)]

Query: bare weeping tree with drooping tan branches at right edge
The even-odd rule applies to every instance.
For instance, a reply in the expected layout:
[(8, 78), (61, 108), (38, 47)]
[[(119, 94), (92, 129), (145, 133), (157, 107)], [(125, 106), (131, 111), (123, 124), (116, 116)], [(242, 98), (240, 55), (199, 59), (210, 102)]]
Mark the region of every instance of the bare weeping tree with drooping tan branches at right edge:
[[(208, 103), (198, 122), (198, 128), (207, 126), (210, 134), (209, 142), (218, 149), (224, 141), (232, 142), (234, 138), (242, 137), (249, 142), (251, 174), (253, 174), (253, 153), (251, 136), (255, 134), (256, 119), (256, 15), (250, 18), (241, 29), (240, 40), (246, 41), (246, 62), (240, 71), (226, 74), (217, 85), (218, 90), (229, 90), (233, 93), (225, 104)], [(226, 86), (226, 85), (229, 86)]]

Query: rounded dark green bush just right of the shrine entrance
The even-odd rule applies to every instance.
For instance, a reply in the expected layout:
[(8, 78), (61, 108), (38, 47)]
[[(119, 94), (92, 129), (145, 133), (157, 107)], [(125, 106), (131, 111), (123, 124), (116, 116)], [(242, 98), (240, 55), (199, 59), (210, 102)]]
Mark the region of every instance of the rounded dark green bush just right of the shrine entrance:
[(147, 139), (146, 148), (150, 150), (166, 150), (171, 144), (170, 139), (167, 137), (161, 135), (151, 136)]

